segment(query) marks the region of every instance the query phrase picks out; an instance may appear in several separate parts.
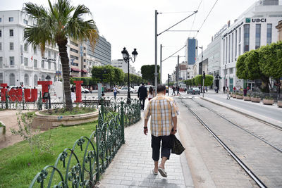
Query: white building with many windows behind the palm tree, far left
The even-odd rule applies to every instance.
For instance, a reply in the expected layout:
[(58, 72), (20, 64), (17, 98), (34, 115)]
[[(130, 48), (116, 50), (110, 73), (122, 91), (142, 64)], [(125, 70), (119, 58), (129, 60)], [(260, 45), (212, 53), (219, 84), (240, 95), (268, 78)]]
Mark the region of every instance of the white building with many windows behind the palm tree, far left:
[(23, 41), (27, 25), (33, 25), (32, 20), (22, 11), (0, 11), (0, 83), (33, 87), (47, 75), (54, 81), (61, 72), (57, 47), (46, 46), (42, 56), (40, 49)]

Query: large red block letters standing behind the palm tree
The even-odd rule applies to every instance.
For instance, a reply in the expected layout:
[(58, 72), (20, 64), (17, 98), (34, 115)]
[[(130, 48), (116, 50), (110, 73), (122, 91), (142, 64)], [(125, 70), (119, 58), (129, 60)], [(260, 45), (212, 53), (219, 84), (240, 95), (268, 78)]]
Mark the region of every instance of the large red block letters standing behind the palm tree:
[[(81, 84), (83, 83), (83, 81), (74, 81), (75, 82), (75, 87), (76, 87), (76, 100), (75, 103), (81, 103), (82, 99), (81, 99)], [(52, 84), (52, 81), (37, 81), (37, 84), (42, 85), (42, 98), (44, 96), (44, 93), (48, 93), (49, 92), (49, 85)], [(10, 89), (8, 91), (7, 84), (0, 84), (0, 86), (2, 87), (1, 89), (1, 101), (5, 102), (6, 101), (6, 92), (8, 94), (8, 98), (10, 101), (23, 101), (23, 94), (25, 96), (25, 102), (35, 102), (37, 101), (37, 89)], [(42, 99), (43, 102), (45, 102), (44, 99)]]

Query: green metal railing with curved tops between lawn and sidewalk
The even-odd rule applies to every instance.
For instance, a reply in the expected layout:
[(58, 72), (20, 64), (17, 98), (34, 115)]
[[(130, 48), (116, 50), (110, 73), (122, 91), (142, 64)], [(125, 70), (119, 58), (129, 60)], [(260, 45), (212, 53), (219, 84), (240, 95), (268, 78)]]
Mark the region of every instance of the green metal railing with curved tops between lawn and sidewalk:
[[(113, 110), (114, 109), (114, 110)], [(34, 177), (31, 187), (94, 187), (125, 143), (124, 128), (140, 120), (140, 103), (120, 103), (99, 108), (98, 124), (90, 137), (80, 137)], [(62, 168), (63, 167), (63, 168)]]

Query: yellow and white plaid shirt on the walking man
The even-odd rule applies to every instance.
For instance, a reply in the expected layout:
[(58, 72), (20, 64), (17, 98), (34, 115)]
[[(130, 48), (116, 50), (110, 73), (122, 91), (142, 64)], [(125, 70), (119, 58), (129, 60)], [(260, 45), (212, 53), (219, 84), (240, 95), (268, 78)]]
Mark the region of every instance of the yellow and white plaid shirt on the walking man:
[(172, 117), (179, 115), (176, 102), (169, 96), (157, 94), (149, 101), (144, 112), (146, 120), (151, 116), (151, 133), (155, 137), (168, 136), (173, 127)]

